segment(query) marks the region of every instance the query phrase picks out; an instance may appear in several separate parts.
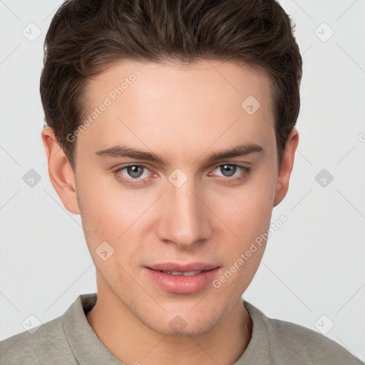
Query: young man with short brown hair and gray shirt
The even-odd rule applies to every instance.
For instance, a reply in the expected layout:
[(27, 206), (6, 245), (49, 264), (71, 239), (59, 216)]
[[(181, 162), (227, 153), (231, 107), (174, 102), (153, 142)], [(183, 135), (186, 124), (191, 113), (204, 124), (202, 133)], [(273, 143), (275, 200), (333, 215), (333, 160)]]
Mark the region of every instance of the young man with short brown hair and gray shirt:
[(361, 364), (242, 301), (287, 194), (301, 77), (274, 0), (66, 1), (41, 135), (98, 293), (1, 342), (1, 364)]

